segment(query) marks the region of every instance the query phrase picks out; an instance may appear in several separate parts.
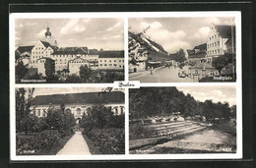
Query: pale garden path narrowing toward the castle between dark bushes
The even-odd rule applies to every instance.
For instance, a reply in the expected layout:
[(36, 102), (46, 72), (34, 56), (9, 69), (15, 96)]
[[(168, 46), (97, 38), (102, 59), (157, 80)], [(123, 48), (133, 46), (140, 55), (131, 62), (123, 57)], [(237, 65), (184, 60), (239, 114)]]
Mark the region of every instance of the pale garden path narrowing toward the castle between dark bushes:
[(81, 132), (76, 132), (75, 135), (68, 140), (64, 147), (58, 151), (57, 155), (89, 155), (90, 150), (86, 140)]

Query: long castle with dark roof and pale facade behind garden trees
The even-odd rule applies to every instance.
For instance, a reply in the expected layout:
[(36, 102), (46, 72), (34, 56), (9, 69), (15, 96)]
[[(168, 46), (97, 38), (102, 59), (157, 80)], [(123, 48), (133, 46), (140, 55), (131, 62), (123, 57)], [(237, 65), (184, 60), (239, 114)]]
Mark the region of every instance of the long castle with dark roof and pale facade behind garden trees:
[(121, 91), (37, 95), (32, 101), (31, 110), (37, 117), (46, 117), (49, 106), (60, 108), (64, 104), (65, 110), (70, 111), (75, 119), (81, 119), (97, 103), (111, 107), (114, 115), (124, 114), (124, 93)]

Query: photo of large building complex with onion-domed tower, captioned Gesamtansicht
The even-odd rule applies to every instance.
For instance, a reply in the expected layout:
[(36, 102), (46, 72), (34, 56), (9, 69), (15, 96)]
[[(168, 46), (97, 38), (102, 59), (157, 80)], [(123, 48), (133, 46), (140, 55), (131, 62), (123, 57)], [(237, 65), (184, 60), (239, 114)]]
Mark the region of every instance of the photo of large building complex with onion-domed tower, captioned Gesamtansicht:
[[(122, 18), (11, 17), (16, 84), (124, 81)], [(13, 27), (13, 28), (12, 28)], [(14, 50), (14, 51), (13, 51)], [(12, 61), (13, 60), (13, 61)]]

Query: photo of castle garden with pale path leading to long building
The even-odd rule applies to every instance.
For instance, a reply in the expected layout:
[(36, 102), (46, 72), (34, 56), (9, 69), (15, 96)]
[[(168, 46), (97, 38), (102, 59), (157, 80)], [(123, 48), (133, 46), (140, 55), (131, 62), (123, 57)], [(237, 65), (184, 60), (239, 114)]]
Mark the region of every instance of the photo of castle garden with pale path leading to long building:
[(16, 155), (124, 154), (124, 100), (112, 87), (17, 87)]

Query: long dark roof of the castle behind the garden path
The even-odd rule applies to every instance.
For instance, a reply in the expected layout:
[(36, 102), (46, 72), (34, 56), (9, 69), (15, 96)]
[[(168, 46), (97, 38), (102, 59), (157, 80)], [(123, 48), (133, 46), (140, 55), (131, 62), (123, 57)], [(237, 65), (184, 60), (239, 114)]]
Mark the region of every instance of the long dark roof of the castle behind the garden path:
[(124, 103), (124, 93), (121, 91), (111, 92), (83, 92), (69, 94), (37, 95), (32, 105), (49, 104), (94, 104), (94, 103)]

